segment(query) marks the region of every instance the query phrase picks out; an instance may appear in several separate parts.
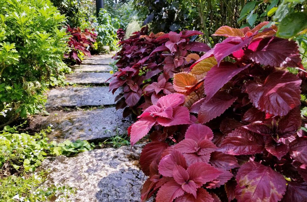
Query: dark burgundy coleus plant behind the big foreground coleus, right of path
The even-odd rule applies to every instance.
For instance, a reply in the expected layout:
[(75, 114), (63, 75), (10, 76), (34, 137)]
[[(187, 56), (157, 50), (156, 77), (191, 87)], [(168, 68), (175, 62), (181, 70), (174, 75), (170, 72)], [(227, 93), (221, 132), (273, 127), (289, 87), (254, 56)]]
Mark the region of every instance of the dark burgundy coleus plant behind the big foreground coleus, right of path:
[(157, 103), (160, 97), (174, 93), (170, 83), (173, 74), (188, 70), (189, 64), (200, 58), (200, 52), (210, 49), (206, 44), (190, 41), (189, 37), (202, 34), (200, 31), (147, 34), (148, 28), (144, 27), (119, 42), (122, 48), (115, 55), (118, 72), (112, 75), (110, 91), (123, 87), (116, 97), (116, 108), (129, 106), (124, 115), (139, 115), (141, 109)]

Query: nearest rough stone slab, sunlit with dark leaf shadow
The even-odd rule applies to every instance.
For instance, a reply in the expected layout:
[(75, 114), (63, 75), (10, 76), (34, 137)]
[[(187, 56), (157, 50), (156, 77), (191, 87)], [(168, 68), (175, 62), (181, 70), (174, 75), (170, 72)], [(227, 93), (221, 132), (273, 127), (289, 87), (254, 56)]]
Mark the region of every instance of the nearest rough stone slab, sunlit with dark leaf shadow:
[(136, 160), (142, 146), (135, 145), (131, 150), (130, 146), (96, 149), (75, 157), (49, 157), (39, 169), (50, 169), (45, 185), (68, 185), (76, 189), (70, 201), (139, 202), (147, 179)]

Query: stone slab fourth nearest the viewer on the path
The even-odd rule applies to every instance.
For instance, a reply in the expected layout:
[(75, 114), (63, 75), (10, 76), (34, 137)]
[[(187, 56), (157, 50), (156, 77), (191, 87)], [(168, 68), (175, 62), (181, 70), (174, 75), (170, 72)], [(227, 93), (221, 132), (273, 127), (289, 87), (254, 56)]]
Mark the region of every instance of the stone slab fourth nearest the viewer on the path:
[(66, 82), (76, 83), (76, 84), (104, 84), (110, 83), (107, 81), (112, 75), (110, 73), (96, 73), (96, 72), (82, 72), (82, 73), (72, 73), (66, 75)]

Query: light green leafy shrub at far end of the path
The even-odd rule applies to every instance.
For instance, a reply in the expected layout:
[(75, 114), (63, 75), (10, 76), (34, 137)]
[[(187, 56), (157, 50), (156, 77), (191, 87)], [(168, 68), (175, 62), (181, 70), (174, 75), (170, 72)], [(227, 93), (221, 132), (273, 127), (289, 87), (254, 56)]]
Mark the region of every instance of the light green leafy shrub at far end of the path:
[(116, 31), (120, 27), (119, 19), (112, 18), (110, 13), (101, 9), (97, 22), (95, 31), (98, 32), (98, 46), (110, 46), (111, 50), (115, 50), (118, 42)]

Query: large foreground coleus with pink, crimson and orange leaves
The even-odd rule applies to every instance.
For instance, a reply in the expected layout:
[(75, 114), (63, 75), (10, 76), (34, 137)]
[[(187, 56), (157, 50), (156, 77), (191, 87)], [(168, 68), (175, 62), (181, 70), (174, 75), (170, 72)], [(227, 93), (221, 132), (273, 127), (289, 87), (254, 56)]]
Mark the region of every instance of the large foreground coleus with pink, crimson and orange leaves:
[(131, 145), (152, 140), (142, 201), (307, 201), (306, 73), (297, 44), (267, 24), (219, 28), (227, 39), (129, 127)]

